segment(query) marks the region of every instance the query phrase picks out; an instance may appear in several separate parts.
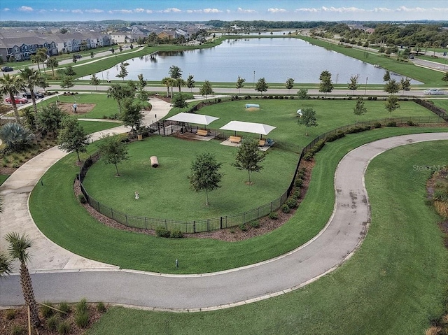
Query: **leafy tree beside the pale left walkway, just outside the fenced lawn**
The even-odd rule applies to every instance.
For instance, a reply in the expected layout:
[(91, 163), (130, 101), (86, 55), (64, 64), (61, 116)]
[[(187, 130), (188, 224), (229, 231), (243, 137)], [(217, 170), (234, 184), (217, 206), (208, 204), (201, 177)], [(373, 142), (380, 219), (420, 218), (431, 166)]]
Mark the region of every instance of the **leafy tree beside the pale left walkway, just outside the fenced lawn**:
[(85, 134), (83, 126), (76, 117), (64, 117), (62, 129), (58, 136), (59, 149), (66, 152), (76, 152), (78, 162), (80, 162), (79, 152), (87, 151), (90, 135)]

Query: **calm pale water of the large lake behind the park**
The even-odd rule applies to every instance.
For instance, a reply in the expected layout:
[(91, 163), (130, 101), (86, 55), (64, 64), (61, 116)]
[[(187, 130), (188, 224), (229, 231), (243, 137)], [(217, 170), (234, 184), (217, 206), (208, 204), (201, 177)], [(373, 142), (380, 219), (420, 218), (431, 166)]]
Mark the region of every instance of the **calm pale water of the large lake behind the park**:
[[(359, 75), (358, 83), (383, 83), (384, 69), (375, 68), (358, 59), (311, 45), (297, 38), (241, 38), (227, 40), (210, 49), (182, 52), (159, 52), (156, 55), (128, 61), (125, 80), (137, 80), (139, 73), (146, 80), (162, 80), (169, 76), (169, 67), (179, 66), (186, 79), (190, 74), (196, 81), (235, 83), (238, 76), (246, 79), (246, 87), (264, 77), (268, 83), (318, 83), (319, 75), (327, 70), (333, 83), (349, 83)], [(97, 73), (98, 78), (116, 80), (118, 66)], [(255, 72), (255, 76), (254, 76)], [(392, 75), (396, 80), (401, 76)], [(90, 77), (85, 77), (88, 79)], [(416, 83), (416, 82), (414, 82)]]

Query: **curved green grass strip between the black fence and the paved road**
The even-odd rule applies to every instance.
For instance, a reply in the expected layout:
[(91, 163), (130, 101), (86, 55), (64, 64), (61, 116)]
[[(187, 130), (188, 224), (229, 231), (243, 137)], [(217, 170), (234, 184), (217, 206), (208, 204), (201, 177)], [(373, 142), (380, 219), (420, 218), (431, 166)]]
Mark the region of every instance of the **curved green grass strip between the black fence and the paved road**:
[[(325, 164), (316, 164), (307, 197), (293, 218), (269, 234), (246, 241), (226, 243), (196, 238), (155, 238), (104, 226), (91, 218), (73, 195), (73, 179), (78, 173), (78, 167), (74, 164), (75, 155), (65, 157), (45, 173), (44, 186), (34, 188), (29, 206), (43, 234), (64, 248), (90, 259), (116, 264), (125, 269), (167, 273), (231, 269), (282, 255), (309, 241), (321, 230), (333, 208), (335, 167), (345, 152), (363, 143), (395, 134), (446, 130), (414, 127), (377, 129), (347, 136), (353, 137), (352, 141), (336, 141), (325, 145), (324, 150), (317, 155), (318, 160), (321, 159)], [(344, 150), (335, 150), (342, 143), (349, 144)], [(93, 145), (89, 150), (94, 151)], [(42, 199), (45, 199), (46, 206), (41, 206)], [(52, 211), (48, 211), (48, 208), (52, 208)], [(176, 211), (176, 208), (172, 209)], [(148, 255), (151, 255), (151, 259)], [(173, 259), (179, 259), (179, 269), (174, 268)]]

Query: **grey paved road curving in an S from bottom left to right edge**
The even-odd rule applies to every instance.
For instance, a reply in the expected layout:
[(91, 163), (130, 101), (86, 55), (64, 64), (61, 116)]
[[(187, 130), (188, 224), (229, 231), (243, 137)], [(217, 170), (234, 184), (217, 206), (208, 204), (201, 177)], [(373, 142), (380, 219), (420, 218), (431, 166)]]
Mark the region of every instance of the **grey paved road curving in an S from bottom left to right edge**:
[[(290, 292), (335, 269), (358, 248), (370, 222), (364, 173), (381, 152), (421, 141), (448, 140), (448, 133), (412, 134), (368, 143), (347, 154), (335, 174), (335, 211), (306, 245), (267, 262), (203, 275), (164, 275), (118, 269), (34, 271), (38, 300), (89, 301), (175, 311), (207, 311)], [(3, 306), (23, 303), (19, 276), (1, 283)], [(88, 283), (88, 285), (86, 285)]]

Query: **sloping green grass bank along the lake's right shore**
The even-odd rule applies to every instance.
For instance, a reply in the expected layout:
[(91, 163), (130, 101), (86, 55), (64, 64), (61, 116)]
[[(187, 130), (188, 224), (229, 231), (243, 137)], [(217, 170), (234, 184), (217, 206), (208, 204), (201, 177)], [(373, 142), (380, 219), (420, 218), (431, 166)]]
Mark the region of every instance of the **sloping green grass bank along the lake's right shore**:
[(442, 73), (440, 73), (439, 71), (424, 69), (421, 66), (414, 66), (414, 64), (410, 62), (397, 62), (393, 57), (376, 55), (374, 53), (365, 52), (364, 50), (359, 50), (357, 48), (345, 48), (342, 45), (328, 43), (327, 41), (322, 41), (315, 38), (306, 36), (299, 36), (299, 38), (311, 44), (318, 45), (330, 50), (335, 50), (336, 52), (342, 53), (343, 55), (359, 59), (366, 63), (379, 64), (384, 69), (388, 69), (395, 73), (400, 73), (402, 76), (414, 78), (421, 81), (422, 83), (425, 83), (426, 85), (434, 87), (442, 87), (446, 85), (444, 81), (442, 81)]

